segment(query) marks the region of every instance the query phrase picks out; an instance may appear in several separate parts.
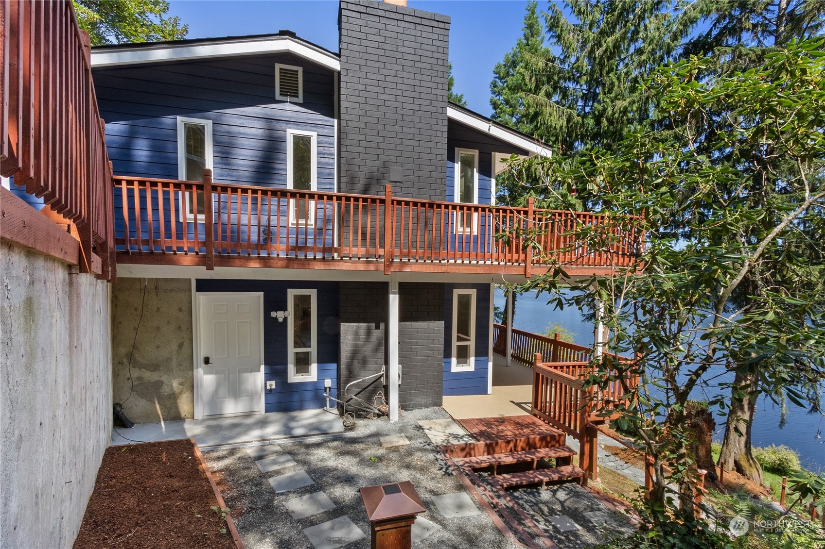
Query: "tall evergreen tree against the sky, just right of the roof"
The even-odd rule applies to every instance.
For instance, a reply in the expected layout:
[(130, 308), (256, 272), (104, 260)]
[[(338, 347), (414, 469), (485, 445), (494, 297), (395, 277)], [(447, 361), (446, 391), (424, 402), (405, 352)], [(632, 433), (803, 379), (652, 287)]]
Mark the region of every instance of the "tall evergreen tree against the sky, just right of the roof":
[(640, 83), (670, 59), (695, 24), (695, 11), (673, 2), (568, 0), (544, 13), (544, 45), (535, 3), (525, 33), (497, 65), (497, 120), (575, 152), (582, 145), (612, 148), (648, 123), (650, 99)]

